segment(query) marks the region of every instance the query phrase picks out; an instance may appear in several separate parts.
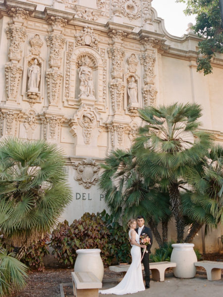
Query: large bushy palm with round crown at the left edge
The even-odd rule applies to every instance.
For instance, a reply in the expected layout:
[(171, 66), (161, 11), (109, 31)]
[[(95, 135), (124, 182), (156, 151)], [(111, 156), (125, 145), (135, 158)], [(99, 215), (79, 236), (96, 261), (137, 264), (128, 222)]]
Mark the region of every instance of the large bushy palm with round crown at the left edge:
[(71, 200), (65, 158), (55, 144), (7, 138), (0, 143), (0, 232), (24, 247), (49, 232)]

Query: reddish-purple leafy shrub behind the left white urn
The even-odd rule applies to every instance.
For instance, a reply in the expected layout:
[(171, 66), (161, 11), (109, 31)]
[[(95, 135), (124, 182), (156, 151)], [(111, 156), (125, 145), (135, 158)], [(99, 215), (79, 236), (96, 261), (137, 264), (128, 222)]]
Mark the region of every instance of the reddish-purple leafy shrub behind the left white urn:
[(59, 223), (52, 233), (51, 246), (59, 263), (73, 264), (79, 248), (100, 248), (104, 263), (109, 257), (110, 233), (99, 213), (84, 213), (69, 226), (67, 221)]

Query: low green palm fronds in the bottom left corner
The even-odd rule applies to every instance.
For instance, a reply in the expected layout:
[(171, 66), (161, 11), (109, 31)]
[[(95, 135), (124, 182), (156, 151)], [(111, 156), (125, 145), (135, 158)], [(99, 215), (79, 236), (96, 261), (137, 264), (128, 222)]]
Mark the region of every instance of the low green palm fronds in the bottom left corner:
[(2, 297), (26, 285), (27, 267), (14, 256), (13, 253), (7, 254), (6, 250), (0, 249), (0, 296)]

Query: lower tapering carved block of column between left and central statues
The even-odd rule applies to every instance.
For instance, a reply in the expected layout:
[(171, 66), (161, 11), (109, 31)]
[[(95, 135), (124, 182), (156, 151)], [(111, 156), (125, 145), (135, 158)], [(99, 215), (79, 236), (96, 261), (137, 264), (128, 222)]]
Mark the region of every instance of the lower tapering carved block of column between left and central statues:
[(49, 104), (57, 105), (62, 74), (57, 69), (50, 69), (46, 74)]

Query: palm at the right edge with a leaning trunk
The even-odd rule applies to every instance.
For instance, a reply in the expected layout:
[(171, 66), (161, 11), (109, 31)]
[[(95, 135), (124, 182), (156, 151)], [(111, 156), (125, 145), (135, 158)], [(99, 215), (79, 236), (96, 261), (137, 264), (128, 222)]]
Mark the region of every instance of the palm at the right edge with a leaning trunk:
[(190, 218), (185, 242), (190, 243), (203, 225), (223, 225), (223, 147), (215, 145), (204, 159), (188, 172), (191, 191), (183, 194), (182, 209)]

